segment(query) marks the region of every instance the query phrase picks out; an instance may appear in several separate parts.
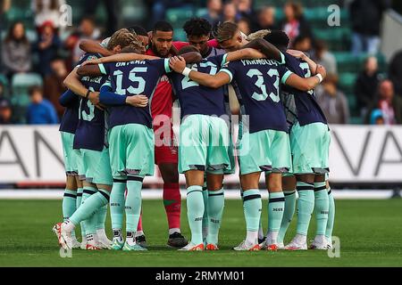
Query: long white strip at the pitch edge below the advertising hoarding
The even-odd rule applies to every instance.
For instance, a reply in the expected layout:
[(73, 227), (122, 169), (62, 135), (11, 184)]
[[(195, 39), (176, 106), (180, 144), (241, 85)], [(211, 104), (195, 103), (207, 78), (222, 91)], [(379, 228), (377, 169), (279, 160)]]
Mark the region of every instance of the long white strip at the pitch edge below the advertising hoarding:
[[(63, 199), (63, 190), (0, 190), (0, 199)], [(186, 191), (180, 190), (181, 199), (186, 199)], [(143, 190), (143, 199), (162, 199), (163, 191)], [(335, 199), (389, 199), (393, 191), (389, 190), (332, 190)], [(263, 199), (268, 198), (267, 191), (261, 191)], [(239, 190), (225, 191), (226, 199), (240, 199)]]

